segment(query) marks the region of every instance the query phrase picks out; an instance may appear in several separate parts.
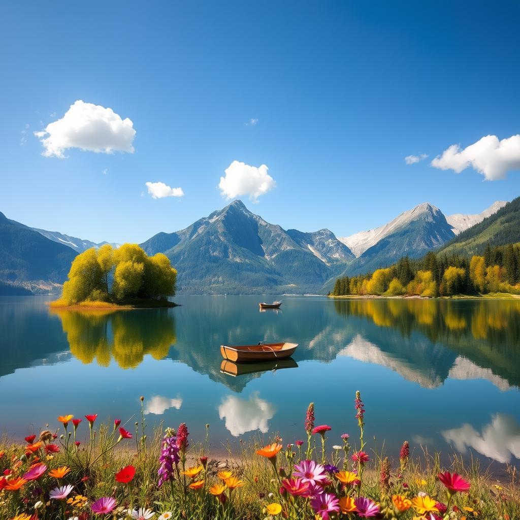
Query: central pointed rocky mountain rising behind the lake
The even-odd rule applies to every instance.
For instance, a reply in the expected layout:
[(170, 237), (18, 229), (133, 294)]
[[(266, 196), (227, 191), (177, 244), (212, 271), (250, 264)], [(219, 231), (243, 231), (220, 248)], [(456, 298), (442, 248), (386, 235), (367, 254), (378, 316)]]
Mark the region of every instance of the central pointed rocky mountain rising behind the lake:
[(178, 270), (179, 292), (193, 294), (317, 291), (354, 260), (328, 229), (284, 230), (239, 200), (140, 245), (148, 254), (165, 253)]

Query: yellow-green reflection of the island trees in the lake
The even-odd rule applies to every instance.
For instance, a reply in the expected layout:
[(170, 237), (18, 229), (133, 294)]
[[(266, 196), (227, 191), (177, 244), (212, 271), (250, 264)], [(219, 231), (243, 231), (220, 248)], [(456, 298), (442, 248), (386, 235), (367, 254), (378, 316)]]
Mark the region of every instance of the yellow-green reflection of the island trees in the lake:
[(175, 321), (168, 309), (138, 311), (51, 310), (61, 320), (70, 352), (83, 363), (136, 368), (146, 354), (167, 356), (175, 344)]

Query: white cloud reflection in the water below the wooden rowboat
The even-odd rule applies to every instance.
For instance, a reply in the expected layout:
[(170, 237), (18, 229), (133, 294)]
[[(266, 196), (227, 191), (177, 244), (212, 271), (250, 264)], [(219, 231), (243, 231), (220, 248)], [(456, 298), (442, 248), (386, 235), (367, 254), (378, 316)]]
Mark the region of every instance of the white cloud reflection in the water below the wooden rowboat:
[(233, 437), (246, 432), (260, 430), (269, 431), (268, 421), (275, 415), (276, 408), (253, 392), (249, 399), (229, 395), (218, 407), (220, 419), (226, 418), (226, 428)]

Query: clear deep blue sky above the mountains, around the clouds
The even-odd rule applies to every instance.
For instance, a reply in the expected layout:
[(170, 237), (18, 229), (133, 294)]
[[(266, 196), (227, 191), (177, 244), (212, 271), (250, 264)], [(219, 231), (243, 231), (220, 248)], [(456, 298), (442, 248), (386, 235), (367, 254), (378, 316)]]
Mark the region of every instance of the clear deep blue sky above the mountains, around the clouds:
[[(345, 236), (425, 201), (480, 212), (520, 194), (518, 172), (431, 161), (520, 133), (518, 19), (517, 2), (4, 3), (0, 211), (140, 242), (224, 206), (239, 161), (267, 165), (276, 187), (240, 198), (284, 228)], [(44, 157), (33, 132), (77, 100), (129, 118), (134, 152)], [(152, 198), (159, 181), (184, 196)]]

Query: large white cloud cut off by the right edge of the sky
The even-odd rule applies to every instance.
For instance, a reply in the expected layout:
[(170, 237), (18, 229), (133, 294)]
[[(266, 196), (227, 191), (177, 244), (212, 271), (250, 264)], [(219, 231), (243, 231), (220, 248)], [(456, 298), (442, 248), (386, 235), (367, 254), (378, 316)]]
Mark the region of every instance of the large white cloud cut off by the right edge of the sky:
[(501, 141), (496, 135), (488, 135), (463, 150), (451, 145), (432, 161), (432, 166), (456, 173), (472, 166), (486, 180), (503, 179), (508, 172), (520, 170), (520, 135)]

